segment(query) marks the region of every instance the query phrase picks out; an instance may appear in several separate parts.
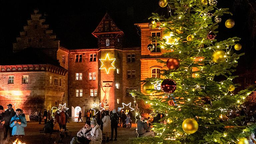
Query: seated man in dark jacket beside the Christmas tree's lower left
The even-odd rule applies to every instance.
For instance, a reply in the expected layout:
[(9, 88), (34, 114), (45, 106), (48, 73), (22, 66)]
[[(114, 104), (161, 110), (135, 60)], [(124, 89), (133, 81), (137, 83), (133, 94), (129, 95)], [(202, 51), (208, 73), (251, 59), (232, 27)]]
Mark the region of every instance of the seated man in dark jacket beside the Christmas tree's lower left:
[(138, 120), (137, 122), (137, 132), (139, 134), (139, 136), (142, 137), (147, 137), (147, 136), (152, 136), (155, 137), (155, 133), (153, 131), (151, 131), (151, 127), (150, 125), (148, 125), (148, 121), (145, 120), (144, 122), (144, 117), (141, 116), (141, 120)]

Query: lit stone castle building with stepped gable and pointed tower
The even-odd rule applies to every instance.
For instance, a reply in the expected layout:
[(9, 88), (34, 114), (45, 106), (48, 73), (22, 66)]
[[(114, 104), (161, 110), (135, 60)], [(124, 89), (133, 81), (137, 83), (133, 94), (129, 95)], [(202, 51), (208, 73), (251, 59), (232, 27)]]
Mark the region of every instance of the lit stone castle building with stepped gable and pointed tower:
[(84, 116), (106, 101), (110, 110), (122, 103), (132, 106), (129, 90), (142, 91), (141, 80), (160, 77), (160, 70), (167, 69), (157, 62), (167, 60), (165, 51), (147, 49), (150, 43), (159, 45), (148, 37), (162, 37), (163, 29), (150, 30), (148, 23), (135, 24), (141, 31), (141, 47), (123, 47), (124, 33), (106, 13), (92, 33), (98, 47), (69, 50), (60, 46), (44, 22), (34, 10), (13, 44), (14, 58), (0, 65), (0, 105), (23, 108), (28, 98), (40, 97), (47, 109), (66, 103), (70, 116), (79, 111)]

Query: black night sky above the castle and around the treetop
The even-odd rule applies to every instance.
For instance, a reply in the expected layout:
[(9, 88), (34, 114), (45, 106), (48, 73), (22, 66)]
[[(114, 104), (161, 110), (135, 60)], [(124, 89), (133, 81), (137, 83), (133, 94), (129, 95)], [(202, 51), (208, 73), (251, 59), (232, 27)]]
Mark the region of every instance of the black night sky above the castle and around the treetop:
[[(251, 3), (248, 3), (250, 2)], [(242, 50), (238, 69), (250, 69), (255, 63), (256, 2), (254, 0), (218, 0), (218, 8), (230, 8), (233, 16), (225, 15), (220, 23), (216, 39), (242, 38)], [(91, 34), (106, 12), (117, 27), (124, 31), (125, 46), (140, 46), (140, 36), (134, 23), (148, 22), (152, 12), (165, 13), (158, 0), (0, 0), (0, 48), (1, 55), (12, 52), (12, 43), (30, 19), (34, 9), (39, 9), (46, 24), (67, 49), (97, 48), (97, 39)], [(225, 27), (225, 20), (232, 18), (235, 26)], [(253, 29), (254, 28), (254, 29)]]

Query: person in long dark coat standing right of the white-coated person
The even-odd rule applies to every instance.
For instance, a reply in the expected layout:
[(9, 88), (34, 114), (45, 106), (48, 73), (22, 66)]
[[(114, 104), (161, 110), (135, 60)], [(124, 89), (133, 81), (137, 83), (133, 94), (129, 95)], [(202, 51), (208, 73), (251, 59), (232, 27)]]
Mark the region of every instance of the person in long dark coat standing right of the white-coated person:
[(117, 140), (116, 138), (117, 138), (118, 121), (119, 121), (119, 116), (116, 113), (116, 109), (114, 109), (113, 113), (111, 115), (111, 139), (110, 139), (110, 141), (113, 141), (114, 129), (115, 129), (115, 139), (114, 139), (114, 141)]

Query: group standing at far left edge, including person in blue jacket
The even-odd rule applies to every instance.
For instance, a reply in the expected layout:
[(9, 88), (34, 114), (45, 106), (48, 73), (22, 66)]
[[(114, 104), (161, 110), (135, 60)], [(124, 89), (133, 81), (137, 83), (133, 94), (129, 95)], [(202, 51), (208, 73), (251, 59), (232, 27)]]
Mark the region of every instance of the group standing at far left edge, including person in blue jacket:
[(0, 105), (0, 143), (7, 139), (8, 133), (11, 139), (23, 139), (26, 126), (27, 120), (22, 109), (14, 111), (12, 104), (8, 104), (4, 111), (4, 107)]

